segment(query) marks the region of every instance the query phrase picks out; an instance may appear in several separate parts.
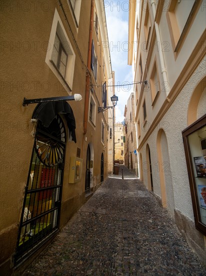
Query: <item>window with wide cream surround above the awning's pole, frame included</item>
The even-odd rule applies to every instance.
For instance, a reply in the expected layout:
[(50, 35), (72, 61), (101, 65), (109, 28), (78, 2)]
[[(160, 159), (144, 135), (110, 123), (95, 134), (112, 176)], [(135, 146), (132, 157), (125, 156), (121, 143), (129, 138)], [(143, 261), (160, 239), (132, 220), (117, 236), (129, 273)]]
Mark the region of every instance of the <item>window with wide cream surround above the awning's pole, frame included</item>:
[(70, 92), (73, 83), (75, 54), (57, 10), (54, 12), (48, 45), (51, 47), (50, 51), (46, 52), (45, 63), (66, 91)]

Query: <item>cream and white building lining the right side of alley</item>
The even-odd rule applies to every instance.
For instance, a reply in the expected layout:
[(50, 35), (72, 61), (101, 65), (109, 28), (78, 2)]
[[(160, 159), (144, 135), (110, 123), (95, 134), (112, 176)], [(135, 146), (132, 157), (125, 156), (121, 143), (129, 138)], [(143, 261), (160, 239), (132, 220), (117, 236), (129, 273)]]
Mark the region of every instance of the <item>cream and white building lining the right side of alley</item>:
[(205, 2), (129, 5), (139, 176), (205, 263)]

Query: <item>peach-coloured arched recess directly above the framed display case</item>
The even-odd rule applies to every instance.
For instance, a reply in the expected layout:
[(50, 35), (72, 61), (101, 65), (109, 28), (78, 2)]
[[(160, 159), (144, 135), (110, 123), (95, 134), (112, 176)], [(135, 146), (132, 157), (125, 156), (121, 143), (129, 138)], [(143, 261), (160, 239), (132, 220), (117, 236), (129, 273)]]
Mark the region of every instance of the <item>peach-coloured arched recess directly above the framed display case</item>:
[[(206, 77), (195, 87), (187, 110), (187, 124), (190, 125), (205, 114)], [(201, 104), (202, 102), (202, 104)], [(204, 104), (203, 104), (204, 103)]]

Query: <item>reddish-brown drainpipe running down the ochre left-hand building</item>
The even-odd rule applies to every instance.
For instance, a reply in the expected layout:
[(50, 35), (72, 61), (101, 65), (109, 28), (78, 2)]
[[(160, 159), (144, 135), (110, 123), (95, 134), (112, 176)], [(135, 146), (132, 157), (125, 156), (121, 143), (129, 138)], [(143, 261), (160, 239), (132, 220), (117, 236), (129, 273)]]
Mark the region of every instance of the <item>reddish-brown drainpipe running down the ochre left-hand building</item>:
[(90, 72), (91, 72), (91, 43), (92, 43), (92, 31), (93, 31), (93, 11), (94, 11), (94, 0), (91, 0), (91, 15), (90, 15), (90, 27), (89, 27), (89, 40), (88, 40), (88, 59), (86, 75), (86, 91), (84, 101), (84, 114), (83, 114), (83, 134), (87, 131), (87, 120), (88, 120), (88, 105), (89, 105), (89, 84), (90, 84)]

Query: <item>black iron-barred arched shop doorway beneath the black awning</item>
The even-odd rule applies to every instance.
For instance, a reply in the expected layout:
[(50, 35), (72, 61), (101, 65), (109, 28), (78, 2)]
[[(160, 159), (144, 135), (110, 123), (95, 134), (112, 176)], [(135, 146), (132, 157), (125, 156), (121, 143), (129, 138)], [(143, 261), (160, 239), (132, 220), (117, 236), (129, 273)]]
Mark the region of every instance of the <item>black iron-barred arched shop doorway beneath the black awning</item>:
[(29, 167), (14, 260), (19, 262), (58, 231), (66, 132), (56, 115), (40, 121)]

